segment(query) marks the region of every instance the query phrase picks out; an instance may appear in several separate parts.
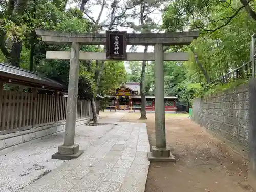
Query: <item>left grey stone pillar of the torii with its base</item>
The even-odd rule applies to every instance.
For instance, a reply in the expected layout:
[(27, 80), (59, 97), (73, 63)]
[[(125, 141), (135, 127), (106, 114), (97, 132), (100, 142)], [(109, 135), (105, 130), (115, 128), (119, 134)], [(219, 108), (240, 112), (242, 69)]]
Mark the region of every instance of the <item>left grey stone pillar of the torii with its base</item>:
[(80, 45), (77, 42), (72, 42), (64, 144), (59, 146), (58, 152), (52, 155), (53, 159), (73, 159), (83, 153), (83, 151), (79, 150), (79, 145), (75, 144), (79, 51)]

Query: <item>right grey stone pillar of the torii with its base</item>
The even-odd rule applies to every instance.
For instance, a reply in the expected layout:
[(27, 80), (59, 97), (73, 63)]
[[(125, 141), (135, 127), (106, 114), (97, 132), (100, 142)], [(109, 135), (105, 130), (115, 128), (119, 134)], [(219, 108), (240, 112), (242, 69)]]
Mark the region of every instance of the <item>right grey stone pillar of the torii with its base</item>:
[(165, 109), (164, 109), (164, 72), (163, 72), (163, 45), (155, 45), (155, 131), (156, 146), (148, 153), (151, 162), (175, 161), (166, 148), (165, 139)]

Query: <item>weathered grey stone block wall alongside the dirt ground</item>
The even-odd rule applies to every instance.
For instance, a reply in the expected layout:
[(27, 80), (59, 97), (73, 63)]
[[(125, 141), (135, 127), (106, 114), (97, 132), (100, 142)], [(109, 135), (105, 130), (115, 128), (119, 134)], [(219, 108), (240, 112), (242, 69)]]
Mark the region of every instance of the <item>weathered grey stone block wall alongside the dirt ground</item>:
[(248, 98), (248, 86), (243, 85), (194, 99), (191, 119), (247, 154)]

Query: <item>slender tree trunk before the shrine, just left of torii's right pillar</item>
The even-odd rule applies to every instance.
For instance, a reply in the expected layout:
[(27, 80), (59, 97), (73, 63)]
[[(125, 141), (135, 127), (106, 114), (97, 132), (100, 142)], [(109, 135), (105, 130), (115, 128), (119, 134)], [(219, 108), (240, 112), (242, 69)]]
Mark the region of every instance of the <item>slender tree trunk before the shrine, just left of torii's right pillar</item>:
[[(147, 47), (145, 46), (144, 53), (147, 53)], [(140, 95), (141, 95), (141, 116), (140, 119), (146, 118), (146, 96), (145, 96), (145, 71), (146, 71), (146, 61), (142, 62), (141, 68), (141, 79), (140, 79)]]

